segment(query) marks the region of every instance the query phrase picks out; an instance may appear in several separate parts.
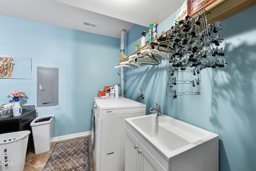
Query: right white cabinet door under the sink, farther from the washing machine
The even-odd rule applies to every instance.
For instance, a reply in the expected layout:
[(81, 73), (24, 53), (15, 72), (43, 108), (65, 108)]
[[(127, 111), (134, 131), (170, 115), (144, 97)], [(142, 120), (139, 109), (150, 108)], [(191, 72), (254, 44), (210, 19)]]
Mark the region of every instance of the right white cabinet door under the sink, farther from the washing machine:
[(139, 143), (139, 171), (166, 171), (156, 158)]

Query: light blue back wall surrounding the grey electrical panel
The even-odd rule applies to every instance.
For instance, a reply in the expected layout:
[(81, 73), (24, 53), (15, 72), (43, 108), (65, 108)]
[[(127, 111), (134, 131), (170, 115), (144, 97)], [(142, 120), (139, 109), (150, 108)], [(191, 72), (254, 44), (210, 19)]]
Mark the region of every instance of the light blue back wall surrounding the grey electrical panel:
[(0, 79), (0, 104), (19, 89), (28, 96), (23, 105), (36, 104), (37, 66), (59, 68), (61, 109), (37, 107), (38, 116), (54, 115), (54, 137), (91, 131), (98, 90), (120, 84), (120, 39), (4, 15), (0, 26), (0, 55), (32, 58), (31, 80)]

